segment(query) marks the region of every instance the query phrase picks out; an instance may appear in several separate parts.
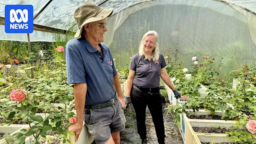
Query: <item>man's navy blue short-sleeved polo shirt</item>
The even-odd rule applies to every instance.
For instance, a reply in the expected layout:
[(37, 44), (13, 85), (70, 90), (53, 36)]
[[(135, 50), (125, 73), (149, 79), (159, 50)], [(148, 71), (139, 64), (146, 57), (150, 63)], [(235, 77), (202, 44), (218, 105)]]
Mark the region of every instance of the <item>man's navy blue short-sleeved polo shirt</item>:
[(102, 56), (85, 38), (68, 41), (64, 50), (68, 84), (87, 84), (86, 104), (107, 102), (116, 95), (113, 76), (117, 71), (111, 52), (105, 44), (99, 46)]

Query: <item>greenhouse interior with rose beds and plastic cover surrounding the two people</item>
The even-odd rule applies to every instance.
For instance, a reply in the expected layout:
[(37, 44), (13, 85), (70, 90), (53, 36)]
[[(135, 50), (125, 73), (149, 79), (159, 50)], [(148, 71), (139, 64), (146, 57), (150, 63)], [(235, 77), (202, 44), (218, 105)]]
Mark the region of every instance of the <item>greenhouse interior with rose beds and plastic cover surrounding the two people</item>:
[[(68, 129), (77, 113), (64, 54), (86, 3), (114, 9), (103, 43), (124, 96), (144, 34), (157, 32), (181, 95), (161, 75), (165, 144), (256, 143), (256, 0), (0, 0), (0, 144), (97, 143), (85, 121), (78, 141)], [(33, 6), (32, 33), (6, 33), (6, 5)], [(120, 144), (143, 143), (133, 104), (124, 116)], [(153, 119), (148, 105), (148, 144), (159, 143)]]

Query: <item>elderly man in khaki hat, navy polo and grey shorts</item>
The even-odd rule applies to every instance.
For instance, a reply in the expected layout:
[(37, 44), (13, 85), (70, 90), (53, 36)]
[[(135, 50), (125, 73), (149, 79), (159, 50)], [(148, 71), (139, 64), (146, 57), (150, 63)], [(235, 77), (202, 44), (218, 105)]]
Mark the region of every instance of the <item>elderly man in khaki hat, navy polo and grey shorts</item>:
[(64, 57), (68, 83), (74, 84), (77, 122), (69, 130), (76, 140), (83, 121), (96, 144), (120, 144), (119, 132), (125, 127), (126, 106), (117, 71), (108, 46), (101, 43), (112, 12), (93, 3), (74, 12), (79, 29), (66, 44)]

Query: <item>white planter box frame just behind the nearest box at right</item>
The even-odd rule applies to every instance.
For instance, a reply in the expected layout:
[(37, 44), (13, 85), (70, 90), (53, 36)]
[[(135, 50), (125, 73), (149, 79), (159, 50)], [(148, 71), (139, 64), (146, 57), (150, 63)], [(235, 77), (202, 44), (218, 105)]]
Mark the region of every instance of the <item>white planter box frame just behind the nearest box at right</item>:
[[(186, 112), (191, 111), (192, 113), (194, 113), (192, 110), (186, 110)], [(199, 110), (196, 111), (194, 113), (194, 115), (196, 116), (202, 116), (202, 115), (210, 115), (210, 113), (208, 111), (205, 110)], [(221, 111), (216, 111), (214, 115), (218, 115), (218, 116), (223, 116), (224, 112)], [(236, 123), (234, 120), (201, 120), (201, 119), (190, 119), (186, 116), (185, 113), (180, 114), (180, 126), (178, 128), (180, 128), (180, 131), (182, 132), (182, 138), (184, 143), (186, 144), (186, 131), (188, 130), (188, 128), (186, 127), (186, 123), (190, 121), (190, 122), (212, 122), (212, 123)]]

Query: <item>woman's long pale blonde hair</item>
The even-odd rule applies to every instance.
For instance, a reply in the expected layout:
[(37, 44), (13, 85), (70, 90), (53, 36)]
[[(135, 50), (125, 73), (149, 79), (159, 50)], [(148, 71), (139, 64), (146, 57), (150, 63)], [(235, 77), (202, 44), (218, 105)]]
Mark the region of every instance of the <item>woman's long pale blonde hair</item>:
[(154, 30), (150, 30), (148, 31), (146, 34), (144, 34), (144, 36), (142, 37), (142, 40), (140, 42), (140, 48), (139, 48), (139, 55), (140, 56), (145, 56), (145, 59), (146, 59), (146, 52), (144, 50), (144, 44), (143, 44), (143, 41), (145, 40), (146, 36), (148, 35), (153, 35), (155, 38), (156, 38), (156, 43), (155, 43), (155, 48), (154, 50), (152, 51), (152, 59), (154, 62), (158, 63), (158, 59), (159, 59), (159, 48), (158, 48), (158, 34), (156, 33), (156, 31)]

